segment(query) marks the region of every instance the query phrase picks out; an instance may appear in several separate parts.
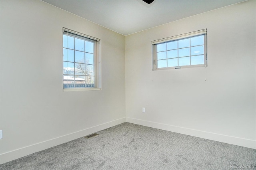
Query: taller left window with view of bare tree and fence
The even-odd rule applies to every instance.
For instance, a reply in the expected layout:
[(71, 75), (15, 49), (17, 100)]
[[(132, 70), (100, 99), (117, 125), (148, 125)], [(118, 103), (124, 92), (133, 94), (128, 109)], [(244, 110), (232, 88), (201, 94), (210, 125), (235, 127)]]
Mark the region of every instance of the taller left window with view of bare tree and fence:
[(99, 39), (63, 28), (63, 89), (98, 88)]

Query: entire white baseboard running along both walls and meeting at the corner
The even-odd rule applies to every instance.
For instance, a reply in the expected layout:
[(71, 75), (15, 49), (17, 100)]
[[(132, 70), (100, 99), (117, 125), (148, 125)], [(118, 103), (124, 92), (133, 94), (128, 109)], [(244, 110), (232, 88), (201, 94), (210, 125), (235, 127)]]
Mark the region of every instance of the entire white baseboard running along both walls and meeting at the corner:
[(200, 138), (216, 140), (219, 142), (235, 144), (238, 146), (244, 146), (244, 147), (256, 149), (256, 141), (255, 140), (238, 138), (238, 137), (234, 137), (234, 136), (227, 136), (227, 135), (223, 135), (223, 134), (216, 134), (216, 133), (212, 133), (212, 132), (205, 132), (205, 131), (201, 131), (201, 130), (177, 127), (177, 126), (173, 126), (173, 125), (166, 125), (166, 124), (162, 124), (162, 123), (156, 123), (156, 122), (144, 121), (144, 120), (140, 120), (140, 119), (126, 117), (126, 118), (121, 118), (121, 119), (117, 119), (114, 121), (110, 121), (110, 122), (107, 122), (107, 123), (104, 123), (101, 125), (97, 125), (94, 127), (86, 128), (86, 129), (80, 130), (78, 132), (74, 132), (71, 134), (66, 134), (64, 136), (46, 140), (46, 141), (43, 141), (40, 143), (32, 144), (32, 145), (26, 146), (24, 148), (19, 148), (17, 150), (12, 150), (10, 152), (2, 153), (2, 154), (0, 154), (0, 164), (21, 158), (23, 156), (27, 156), (29, 154), (32, 154), (32, 153), (35, 153), (35, 152), (65, 143), (65, 142), (69, 142), (71, 140), (80, 138), (82, 136), (86, 136), (88, 134), (92, 134), (94, 132), (97, 132), (97, 131), (100, 131), (100, 130), (103, 130), (103, 129), (106, 129), (109, 127), (113, 127), (115, 125), (119, 125), (124, 122), (134, 123), (137, 125), (143, 125), (143, 126), (158, 128), (158, 129), (162, 129), (162, 130), (168, 130), (168, 131), (177, 132), (177, 133), (181, 133), (181, 134), (187, 134), (190, 136), (196, 136), (196, 137), (200, 137)]

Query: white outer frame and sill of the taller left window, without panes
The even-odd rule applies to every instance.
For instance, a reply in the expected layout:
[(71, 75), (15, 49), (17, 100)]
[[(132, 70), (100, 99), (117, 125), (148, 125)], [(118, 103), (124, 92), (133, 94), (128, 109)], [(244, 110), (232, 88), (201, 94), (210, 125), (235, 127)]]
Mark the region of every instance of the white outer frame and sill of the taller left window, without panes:
[[(83, 38), (89, 42), (94, 42), (94, 87), (71, 87), (71, 88), (64, 88), (64, 73), (63, 73), (63, 35), (72, 35), (74, 37), (80, 37)], [(100, 39), (98, 38), (94, 38), (92, 36), (88, 36), (73, 30), (70, 30), (68, 28), (63, 28), (62, 29), (62, 88), (63, 91), (91, 91), (91, 90), (100, 90), (101, 89), (101, 53), (100, 53), (100, 49), (101, 49), (101, 43), (100, 43)], [(74, 61), (75, 63), (75, 61)]]

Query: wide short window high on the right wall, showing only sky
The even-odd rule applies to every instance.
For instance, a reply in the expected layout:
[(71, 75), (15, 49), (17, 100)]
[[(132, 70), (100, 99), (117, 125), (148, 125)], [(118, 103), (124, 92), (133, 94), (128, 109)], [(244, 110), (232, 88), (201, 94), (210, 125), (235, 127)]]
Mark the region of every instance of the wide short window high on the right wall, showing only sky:
[(207, 66), (206, 29), (152, 41), (153, 70)]

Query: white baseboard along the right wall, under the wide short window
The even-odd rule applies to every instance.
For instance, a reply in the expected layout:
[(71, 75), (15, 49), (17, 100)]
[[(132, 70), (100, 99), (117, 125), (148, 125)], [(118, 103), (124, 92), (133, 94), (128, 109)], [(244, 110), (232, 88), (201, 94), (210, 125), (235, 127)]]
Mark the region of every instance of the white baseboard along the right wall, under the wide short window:
[(205, 131), (195, 130), (191, 128), (177, 127), (173, 125), (166, 125), (162, 123), (144, 121), (144, 120), (134, 119), (129, 117), (126, 117), (126, 122), (256, 149), (256, 141), (251, 139), (238, 138), (234, 136), (227, 136), (227, 135), (216, 134), (212, 132), (205, 132)]

